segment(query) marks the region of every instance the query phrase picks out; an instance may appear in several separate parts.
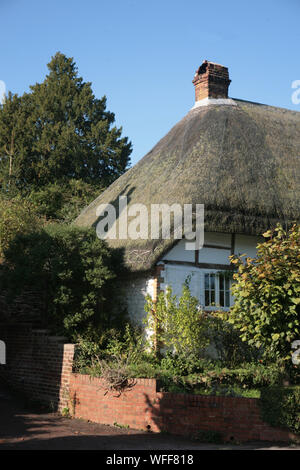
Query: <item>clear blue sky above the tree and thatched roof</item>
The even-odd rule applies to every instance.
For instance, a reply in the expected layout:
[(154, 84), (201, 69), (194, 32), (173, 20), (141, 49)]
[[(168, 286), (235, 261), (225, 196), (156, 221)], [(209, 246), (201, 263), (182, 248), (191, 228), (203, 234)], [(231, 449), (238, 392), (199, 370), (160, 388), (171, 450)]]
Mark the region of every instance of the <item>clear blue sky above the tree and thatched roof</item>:
[(204, 59), (229, 67), (229, 95), (300, 111), (300, 0), (0, 0), (0, 81), (43, 81), (60, 51), (133, 143), (136, 163), (194, 104)]

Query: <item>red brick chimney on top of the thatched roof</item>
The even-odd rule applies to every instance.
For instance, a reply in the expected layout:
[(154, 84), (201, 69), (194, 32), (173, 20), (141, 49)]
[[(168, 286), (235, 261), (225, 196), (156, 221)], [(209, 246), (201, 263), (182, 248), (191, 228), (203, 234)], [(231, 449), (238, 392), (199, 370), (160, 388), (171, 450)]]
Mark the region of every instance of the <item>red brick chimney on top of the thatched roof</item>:
[(228, 98), (228, 68), (204, 60), (194, 75), (196, 102), (204, 98)]

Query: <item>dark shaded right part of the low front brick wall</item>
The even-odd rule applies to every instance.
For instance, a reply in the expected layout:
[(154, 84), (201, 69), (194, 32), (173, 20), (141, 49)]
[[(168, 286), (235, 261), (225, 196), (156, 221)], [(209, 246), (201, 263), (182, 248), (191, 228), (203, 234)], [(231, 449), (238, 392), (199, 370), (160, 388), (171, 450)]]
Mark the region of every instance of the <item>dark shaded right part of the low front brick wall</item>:
[(214, 443), (296, 439), (288, 429), (262, 421), (257, 399), (157, 392), (144, 394), (144, 400), (147, 428), (154, 432)]

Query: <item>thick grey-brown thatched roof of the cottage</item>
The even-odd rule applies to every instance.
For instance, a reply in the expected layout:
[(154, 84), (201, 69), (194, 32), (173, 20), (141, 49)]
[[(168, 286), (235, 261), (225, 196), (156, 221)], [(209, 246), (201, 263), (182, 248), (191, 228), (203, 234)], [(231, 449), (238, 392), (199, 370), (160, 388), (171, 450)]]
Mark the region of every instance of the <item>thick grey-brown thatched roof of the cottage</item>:
[[(192, 109), (77, 218), (96, 225), (99, 204), (204, 204), (209, 231), (260, 234), (300, 220), (300, 113), (242, 100)], [(146, 270), (172, 240), (111, 240)]]

